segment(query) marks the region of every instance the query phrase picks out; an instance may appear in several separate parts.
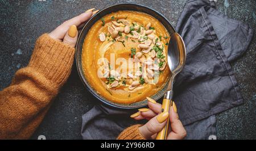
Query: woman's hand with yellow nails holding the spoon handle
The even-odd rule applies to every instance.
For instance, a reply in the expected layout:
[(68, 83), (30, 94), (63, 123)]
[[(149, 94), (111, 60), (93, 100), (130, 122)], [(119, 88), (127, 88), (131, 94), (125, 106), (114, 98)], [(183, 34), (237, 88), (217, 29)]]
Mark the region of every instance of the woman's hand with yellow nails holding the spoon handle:
[(164, 125), (166, 125), (167, 118), (170, 118), (171, 128), (168, 131), (167, 140), (184, 139), (187, 132), (179, 120), (175, 103), (173, 102), (169, 113), (160, 113), (162, 110), (161, 104), (156, 103), (155, 100), (150, 98), (148, 98), (148, 100), (150, 100), (148, 101), (149, 108), (140, 108), (139, 112), (131, 115), (131, 118), (134, 118), (135, 120), (149, 120), (142, 127), (139, 127), (141, 135), (146, 139), (155, 139), (156, 134), (163, 129)]

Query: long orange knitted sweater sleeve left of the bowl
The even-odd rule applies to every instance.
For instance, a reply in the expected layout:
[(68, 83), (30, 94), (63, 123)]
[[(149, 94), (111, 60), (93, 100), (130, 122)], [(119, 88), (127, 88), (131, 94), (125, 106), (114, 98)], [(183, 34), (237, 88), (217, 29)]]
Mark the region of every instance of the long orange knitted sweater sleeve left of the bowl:
[(0, 91), (0, 139), (28, 139), (34, 133), (67, 81), (74, 54), (75, 48), (47, 33), (39, 37), (28, 66)]

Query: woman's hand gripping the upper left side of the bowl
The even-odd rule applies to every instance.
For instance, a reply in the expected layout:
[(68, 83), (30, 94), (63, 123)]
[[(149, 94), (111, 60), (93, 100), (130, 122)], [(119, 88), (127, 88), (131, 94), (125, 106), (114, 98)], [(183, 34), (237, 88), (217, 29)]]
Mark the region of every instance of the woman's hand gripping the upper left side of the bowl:
[(63, 41), (63, 43), (71, 45), (71, 47), (75, 47), (78, 36), (77, 27), (98, 12), (98, 10), (93, 10), (94, 9), (89, 9), (72, 19), (65, 21), (49, 33), (49, 36), (55, 40)]

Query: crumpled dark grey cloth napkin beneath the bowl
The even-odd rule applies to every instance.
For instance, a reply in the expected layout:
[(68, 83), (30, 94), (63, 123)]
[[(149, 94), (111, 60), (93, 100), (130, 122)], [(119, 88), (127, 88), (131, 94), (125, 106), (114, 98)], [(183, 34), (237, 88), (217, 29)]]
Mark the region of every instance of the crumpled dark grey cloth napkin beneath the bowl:
[[(209, 0), (188, 1), (176, 30), (187, 49), (186, 64), (174, 87), (186, 139), (216, 139), (215, 114), (243, 103), (229, 61), (246, 51), (253, 30), (221, 14)], [(94, 106), (82, 116), (82, 138), (116, 139), (123, 129), (135, 124), (129, 118), (132, 112)]]

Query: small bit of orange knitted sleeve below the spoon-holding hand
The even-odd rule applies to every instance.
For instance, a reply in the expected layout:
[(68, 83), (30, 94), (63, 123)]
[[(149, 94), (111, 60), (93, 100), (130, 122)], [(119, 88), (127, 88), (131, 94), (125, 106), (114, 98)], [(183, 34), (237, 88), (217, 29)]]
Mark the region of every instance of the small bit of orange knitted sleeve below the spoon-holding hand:
[(139, 132), (141, 124), (132, 125), (119, 134), (117, 140), (146, 140)]

